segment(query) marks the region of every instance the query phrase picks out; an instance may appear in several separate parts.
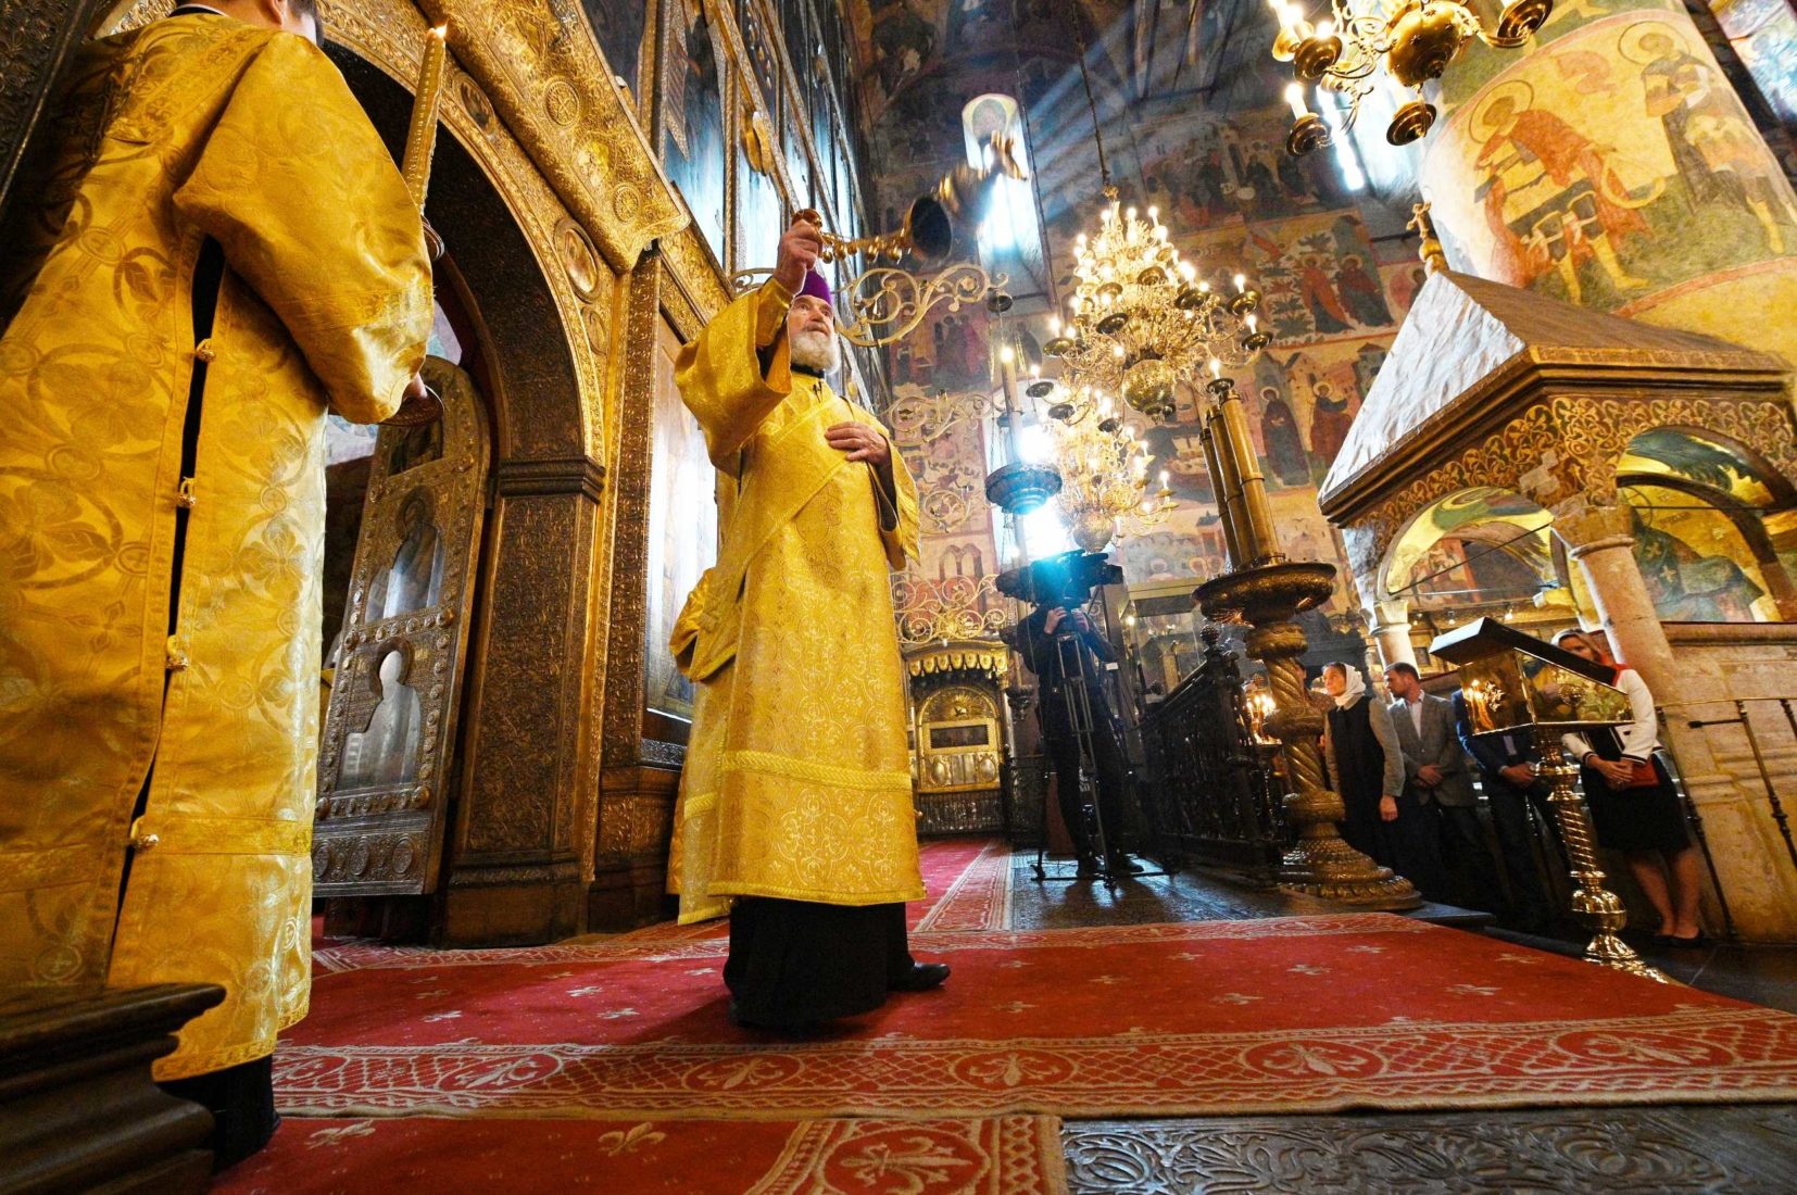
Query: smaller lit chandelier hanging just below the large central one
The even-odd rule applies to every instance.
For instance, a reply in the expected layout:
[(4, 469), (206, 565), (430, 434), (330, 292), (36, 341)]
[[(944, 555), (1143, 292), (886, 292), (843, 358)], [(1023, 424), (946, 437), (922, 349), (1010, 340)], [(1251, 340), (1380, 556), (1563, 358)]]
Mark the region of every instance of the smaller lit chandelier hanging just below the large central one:
[(1060, 492), (1055, 503), (1067, 530), (1085, 552), (1103, 552), (1116, 536), (1141, 534), (1164, 523), (1179, 505), (1161, 473), (1159, 489), (1148, 492), (1148, 449), (1136, 429), (1100, 399), (1096, 419), (1053, 420), (1055, 462)]

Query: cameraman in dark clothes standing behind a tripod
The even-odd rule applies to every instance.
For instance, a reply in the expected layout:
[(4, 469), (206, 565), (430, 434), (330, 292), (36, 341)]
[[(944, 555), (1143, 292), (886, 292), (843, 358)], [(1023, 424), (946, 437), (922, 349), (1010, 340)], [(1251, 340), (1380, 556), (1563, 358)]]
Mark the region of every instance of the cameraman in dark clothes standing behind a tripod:
[(1024, 665), (1040, 681), (1042, 742), (1055, 760), (1055, 789), (1060, 800), (1060, 818), (1073, 836), (1080, 857), (1080, 879), (1098, 875), (1098, 845), (1094, 827), (1084, 814), (1085, 796), (1080, 791), (1080, 739), (1075, 733), (1078, 676), (1064, 676), (1062, 656), (1073, 670), (1078, 658), (1085, 674), (1085, 701), (1093, 715), (1093, 764), (1098, 778), (1098, 814), (1103, 821), (1103, 841), (1111, 855), (1111, 875), (1138, 875), (1141, 866), (1123, 854), (1123, 798), (1129, 792), (1129, 760), (1123, 755), (1123, 733), (1111, 699), (1105, 695), (1103, 665), (1116, 659), (1111, 643), (1098, 634), (1084, 609), (1066, 604), (1040, 606), (1021, 627)]

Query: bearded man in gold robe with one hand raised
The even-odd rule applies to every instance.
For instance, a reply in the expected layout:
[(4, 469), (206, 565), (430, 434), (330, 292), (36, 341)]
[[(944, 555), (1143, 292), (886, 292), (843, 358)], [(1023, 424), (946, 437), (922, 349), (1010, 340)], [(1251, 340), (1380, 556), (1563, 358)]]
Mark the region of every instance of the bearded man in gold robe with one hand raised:
[[(825, 376), (839, 350), (818, 228), (686, 345), (676, 381), (717, 465), (717, 564), (674, 629), (697, 685), (670, 888), (730, 911), (739, 1024), (801, 1028), (940, 985), (913, 961), (924, 895), (890, 570), (916, 555), (916, 487)], [(733, 904), (733, 907), (731, 907)]]

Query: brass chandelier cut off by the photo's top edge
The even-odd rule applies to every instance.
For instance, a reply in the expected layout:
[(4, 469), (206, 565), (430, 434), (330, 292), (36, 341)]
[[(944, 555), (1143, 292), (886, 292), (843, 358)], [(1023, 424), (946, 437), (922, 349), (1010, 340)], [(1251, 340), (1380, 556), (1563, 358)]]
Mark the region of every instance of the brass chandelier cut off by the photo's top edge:
[(1272, 56), (1292, 63), (1299, 77), (1285, 90), (1294, 120), (1285, 147), (1292, 155), (1330, 144), (1328, 124), (1305, 106), (1305, 81), (1348, 97), (1342, 119), (1348, 128), (1384, 66), (1400, 86), (1416, 92), (1385, 129), (1385, 140), (1407, 146), (1436, 122), (1436, 106), (1423, 101), (1423, 83), (1439, 79), (1474, 38), (1500, 50), (1526, 45), (1554, 11), (1553, 0), (1511, 0), (1508, 5), (1500, 0), (1330, 0), (1328, 16), (1312, 25), (1296, 0), (1267, 4), (1279, 18)]

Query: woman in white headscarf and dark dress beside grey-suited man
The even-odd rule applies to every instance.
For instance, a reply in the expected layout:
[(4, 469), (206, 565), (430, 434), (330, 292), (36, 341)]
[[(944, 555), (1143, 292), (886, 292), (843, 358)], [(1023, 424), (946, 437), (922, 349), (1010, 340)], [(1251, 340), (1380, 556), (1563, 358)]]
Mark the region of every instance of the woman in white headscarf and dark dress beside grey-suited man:
[(1323, 665), (1323, 686), (1335, 699), (1328, 719), (1335, 782), (1348, 809), (1342, 839), (1439, 900), (1441, 843), (1430, 810), (1414, 792), (1405, 794), (1391, 712), (1366, 692), (1359, 668), (1344, 663)]

